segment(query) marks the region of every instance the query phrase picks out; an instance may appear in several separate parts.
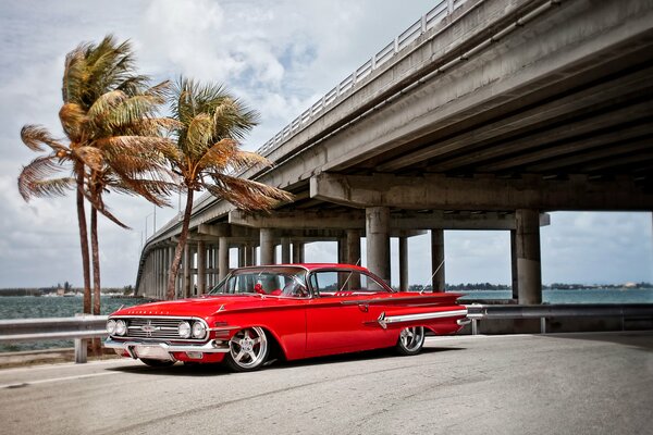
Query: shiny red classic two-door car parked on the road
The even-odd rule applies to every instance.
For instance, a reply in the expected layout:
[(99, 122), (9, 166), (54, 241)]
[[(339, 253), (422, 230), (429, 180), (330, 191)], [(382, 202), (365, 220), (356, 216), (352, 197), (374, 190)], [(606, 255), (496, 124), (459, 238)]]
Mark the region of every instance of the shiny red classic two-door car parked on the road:
[(349, 264), (242, 268), (201, 297), (114, 312), (104, 346), (149, 365), (224, 361), (235, 371), (378, 348), (415, 355), (424, 330), (468, 323), (459, 296), (397, 293)]

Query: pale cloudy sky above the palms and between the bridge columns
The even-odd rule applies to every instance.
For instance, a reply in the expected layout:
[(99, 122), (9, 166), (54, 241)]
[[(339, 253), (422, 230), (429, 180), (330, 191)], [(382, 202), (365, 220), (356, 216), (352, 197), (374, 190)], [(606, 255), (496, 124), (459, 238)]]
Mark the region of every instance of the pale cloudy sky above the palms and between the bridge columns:
[[(139, 72), (224, 84), (260, 112), (243, 146), (256, 150), (395, 36), (433, 8), (396, 0), (0, 0), (0, 288), (82, 285), (74, 199), (19, 195), (16, 177), (37, 154), (25, 124), (57, 137), (63, 60), (107, 34), (133, 42)], [(108, 196), (131, 226), (99, 225), (102, 285), (134, 284), (141, 245), (177, 213), (143, 199)], [(541, 229), (542, 279), (653, 282), (651, 213), (554, 212)], [(335, 261), (335, 244), (310, 244), (307, 261)], [(393, 282), (398, 279), (392, 240)], [(445, 232), (447, 283), (510, 283), (507, 232)], [(409, 281), (430, 278), (429, 237), (409, 240)]]

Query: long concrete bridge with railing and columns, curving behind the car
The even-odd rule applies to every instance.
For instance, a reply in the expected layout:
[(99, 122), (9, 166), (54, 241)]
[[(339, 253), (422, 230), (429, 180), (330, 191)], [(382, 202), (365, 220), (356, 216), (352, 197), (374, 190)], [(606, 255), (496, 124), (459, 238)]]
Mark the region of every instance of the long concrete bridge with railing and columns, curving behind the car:
[[(513, 293), (541, 302), (539, 226), (557, 210), (653, 210), (653, 1), (443, 0), (338, 83), (259, 152), (274, 167), (242, 175), (295, 201), (246, 214), (194, 206), (180, 296), (241, 265), (301, 262), (337, 240), (390, 279), (390, 238), (444, 229), (512, 235)], [(141, 253), (137, 293), (163, 298), (181, 223)], [(281, 245), (281, 258), (275, 258)], [(433, 277), (443, 288), (444, 270)]]

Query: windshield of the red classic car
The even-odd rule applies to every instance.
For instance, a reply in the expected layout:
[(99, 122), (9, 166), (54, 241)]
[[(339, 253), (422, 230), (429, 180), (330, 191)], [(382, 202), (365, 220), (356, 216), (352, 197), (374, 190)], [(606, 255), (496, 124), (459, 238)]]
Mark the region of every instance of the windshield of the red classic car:
[(307, 297), (305, 277), (306, 270), (296, 268), (241, 269), (233, 271), (210, 294)]

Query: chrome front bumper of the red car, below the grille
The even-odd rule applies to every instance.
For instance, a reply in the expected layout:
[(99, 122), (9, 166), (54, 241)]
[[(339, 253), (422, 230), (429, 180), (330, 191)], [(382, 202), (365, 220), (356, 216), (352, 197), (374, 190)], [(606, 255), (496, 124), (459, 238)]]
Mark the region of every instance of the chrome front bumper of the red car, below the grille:
[(204, 345), (169, 345), (151, 341), (116, 341), (108, 338), (104, 347), (122, 353), (126, 351), (134, 359), (151, 358), (174, 361), (173, 352), (226, 353), (229, 346), (224, 341), (210, 340)]

